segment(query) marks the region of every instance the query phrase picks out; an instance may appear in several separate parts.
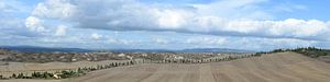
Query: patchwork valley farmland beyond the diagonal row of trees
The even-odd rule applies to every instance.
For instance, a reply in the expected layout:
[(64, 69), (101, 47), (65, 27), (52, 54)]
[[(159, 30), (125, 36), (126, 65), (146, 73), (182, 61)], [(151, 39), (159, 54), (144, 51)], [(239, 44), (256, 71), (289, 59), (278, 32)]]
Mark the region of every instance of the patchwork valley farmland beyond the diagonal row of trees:
[[(16, 52), (0, 51), (0, 72), (4, 79), (31, 79), (32, 73), (100, 70), (130, 63), (206, 63), (252, 54), (224, 52)], [(116, 65), (114, 65), (116, 63)], [(14, 74), (23, 74), (16, 78)], [(81, 72), (81, 74), (84, 74)], [(78, 74), (77, 74), (78, 75)], [(37, 77), (41, 79), (41, 77)], [(42, 79), (51, 79), (43, 77)]]

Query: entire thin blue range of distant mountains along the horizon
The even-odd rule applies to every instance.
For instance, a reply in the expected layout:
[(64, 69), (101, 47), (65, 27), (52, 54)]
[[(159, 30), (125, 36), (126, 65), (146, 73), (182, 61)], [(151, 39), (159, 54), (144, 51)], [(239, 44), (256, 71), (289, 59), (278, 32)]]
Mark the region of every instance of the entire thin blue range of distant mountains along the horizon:
[(10, 50), (21, 52), (92, 52), (92, 51), (114, 51), (114, 52), (255, 52), (251, 50), (242, 49), (228, 49), (228, 48), (191, 48), (183, 50), (168, 50), (168, 49), (103, 49), (91, 50), (81, 48), (50, 48), (37, 46), (0, 46)]

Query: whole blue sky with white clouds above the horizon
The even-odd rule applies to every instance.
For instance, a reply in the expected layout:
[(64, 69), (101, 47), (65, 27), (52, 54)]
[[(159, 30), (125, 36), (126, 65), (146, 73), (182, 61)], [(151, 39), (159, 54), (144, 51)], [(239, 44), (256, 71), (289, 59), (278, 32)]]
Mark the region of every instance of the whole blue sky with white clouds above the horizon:
[(330, 48), (330, 0), (0, 0), (0, 46)]

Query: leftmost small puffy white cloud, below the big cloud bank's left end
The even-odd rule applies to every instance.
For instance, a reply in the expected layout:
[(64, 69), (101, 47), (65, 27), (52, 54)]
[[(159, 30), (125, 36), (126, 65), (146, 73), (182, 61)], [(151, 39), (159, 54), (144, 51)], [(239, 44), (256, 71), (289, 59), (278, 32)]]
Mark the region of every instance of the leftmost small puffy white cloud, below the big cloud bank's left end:
[(33, 32), (46, 32), (46, 28), (43, 25), (43, 21), (35, 16), (29, 16), (25, 20), (25, 26)]

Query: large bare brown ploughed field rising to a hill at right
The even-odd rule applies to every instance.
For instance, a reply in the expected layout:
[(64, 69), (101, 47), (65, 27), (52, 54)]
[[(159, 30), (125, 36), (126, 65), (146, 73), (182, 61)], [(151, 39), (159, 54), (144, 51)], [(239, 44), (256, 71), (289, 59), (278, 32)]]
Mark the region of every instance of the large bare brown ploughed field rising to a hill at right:
[(330, 82), (330, 63), (277, 52), (211, 63), (143, 63), (92, 71), (66, 80), (3, 82)]

